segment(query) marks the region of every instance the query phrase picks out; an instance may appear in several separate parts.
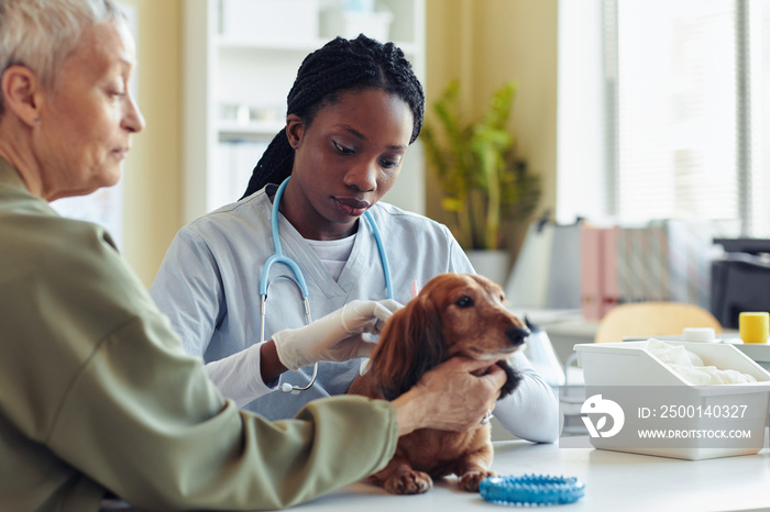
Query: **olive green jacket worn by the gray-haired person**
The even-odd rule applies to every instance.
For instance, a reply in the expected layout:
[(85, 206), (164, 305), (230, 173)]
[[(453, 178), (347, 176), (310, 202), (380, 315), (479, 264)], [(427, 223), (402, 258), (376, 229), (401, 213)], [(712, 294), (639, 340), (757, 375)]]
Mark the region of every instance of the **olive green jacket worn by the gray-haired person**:
[(270, 423), (185, 353), (103, 229), (0, 159), (0, 510), (276, 509), (387, 464), (396, 415), (336, 397)]

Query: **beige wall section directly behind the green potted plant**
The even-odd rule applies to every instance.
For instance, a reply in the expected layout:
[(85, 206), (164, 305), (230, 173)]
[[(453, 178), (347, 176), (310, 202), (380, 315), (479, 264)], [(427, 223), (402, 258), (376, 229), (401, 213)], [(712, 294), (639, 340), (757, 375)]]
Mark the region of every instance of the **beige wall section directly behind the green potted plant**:
[[(553, 211), (557, 168), (558, 0), (427, 0), (428, 109), (447, 82), (459, 79), (469, 112), (483, 110), (493, 90), (518, 82), (512, 132), (521, 156), (542, 177), (536, 214)], [(430, 115), (428, 112), (427, 115)], [(428, 190), (436, 190), (428, 170)], [(442, 218), (437, 194), (428, 197), (429, 216)], [(512, 236), (516, 253), (524, 234)]]

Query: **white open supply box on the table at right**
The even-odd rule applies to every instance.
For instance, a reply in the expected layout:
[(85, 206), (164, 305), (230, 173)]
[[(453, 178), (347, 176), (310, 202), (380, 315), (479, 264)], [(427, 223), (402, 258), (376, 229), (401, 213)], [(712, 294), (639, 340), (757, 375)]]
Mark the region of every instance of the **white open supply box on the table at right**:
[[(763, 443), (765, 426), (770, 408), (770, 374), (755, 363), (750, 357), (729, 344), (667, 342), (671, 345), (683, 345), (688, 350), (703, 359), (704, 365), (719, 369), (734, 369), (748, 374), (757, 382), (741, 385), (693, 386), (674, 371), (669, 365), (646, 349), (647, 342), (619, 342), (601, 344), (580, 344), (578, 361), (583, 367), (586, 396), (591, 387), (615, 387), (616, 390), (631, 389), (628, 387), (667, 387), (659, 390), (676, 390), (675, 396), (689, 411), (706, 411), (711, 408), (733, 408), (746, 405), (748, 414), (741, 418), (716, 418), (694, 414), (681, 418), (676, 426), (682, 430), (751, 430), (759, 433)], [(673, 387), (673, 388), (672, 388)], [(608, 388), (605, 388), (608, 389)], [(648, 391), (652, 394), (653, 390)], [(636, 411), (627, 411), (626, 415)], [(640, 424), (638, 418), (631, 418)], [(662, 420), (661, 420), (662, 421)], [(631, 426), (634, 428), (636, 426)], [(757, 435), (754, 436), (755, 441)], [(676, 442), (676, 447), (635, 447), (627, 439), (618, 437), (591, 437), (591, 444), (596, 448), (630, 452), (646, 455), (683, 458), (690, 460), (727, 457), (735, 455), (756, 454), (761, 449), (756, 447), (714, 447), (714, 441), (701, 438), (683, 438)], [(642, 444), (642, 443), (640, 443)], [(756, 443), (755, 443), (756, 444)]]

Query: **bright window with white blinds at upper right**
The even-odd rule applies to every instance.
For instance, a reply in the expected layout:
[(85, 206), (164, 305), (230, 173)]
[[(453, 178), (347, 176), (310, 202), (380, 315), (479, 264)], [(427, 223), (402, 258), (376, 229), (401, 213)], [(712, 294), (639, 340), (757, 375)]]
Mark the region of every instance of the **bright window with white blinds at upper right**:
[(605, 2), (618, 220), (740, 220), (770, 236), (767, 3)]

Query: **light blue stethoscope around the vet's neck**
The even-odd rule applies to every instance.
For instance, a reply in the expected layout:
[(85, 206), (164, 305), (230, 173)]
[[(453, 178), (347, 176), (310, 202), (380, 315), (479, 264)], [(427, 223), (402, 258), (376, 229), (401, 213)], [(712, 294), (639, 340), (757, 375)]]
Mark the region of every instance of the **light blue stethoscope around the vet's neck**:
[[(305, 320), (307, 321), (307, 324), (309, 325), (312, 323), (312, 318), (310, 316), (310, 302), (308, 301), (308, 287), (307, 283), (305, 282), (305, 276), (302, 276), (302, 271), (299, 269), (299, 265), (297, 263), (289, 258), (288, 256), (284, 256), (284, 251), (280, 246), (280, 234), (278, 233), (278, 205), (280, 203), (280, 198), (284, 194), (284, 190), (286, 189), (286, 185), (288, 183), (289, 178), (286, 178), (283, 183), (278, 187), (278, 190), (275, 192), (275, 197), (273, 198), (273, 210), (271, 214), (271, 235), (273, 236), (273, 255), (267, 258), (265, 261), (265, 266), (262, 269), (262, 277), (260, 278), (260, 341), (261, 343), (265, 342), (265, 302), (267, 302), (267, 288), (270, 287), (271, 281), (268, 281), (268, 276), (270, 276), (270, 270), (271, 267), (273, 266), (274, 263), (279, 263), (286, 265), (289, 270), (292, 270), (292, 274), (294, 274), (294, 283), (299, 290), (300, 294), (302, 296), (302, 303), (305, 305)], [(366, 210), (364, 212), (364, 218), (366, 218), (366, 221), (369, 222), (369, 225), (372, 227), (372, 233), (374, 234), (374, 241), (377, 243), (377, 251), (380, 251), (380, 259), (383, 264), (383, 274), (385, 275), (385, 293), (388, 299), (393, 299), (393, 282), (391, 281), (391, 264), (387, 260), (387, 254), (385, 253), (385, 246), (383, 245), (383, 238), (380, 236), (380, 230), (377, 229), (377, 224), (374, 222), (374, 219), (372, 218), (372, 214)], [(288, 276), (279, 276), (284, 277), (286, 279), (290, 279)], [(284, 392), (290, 392), (292, 394), (297, 394), (299, 391), (305, 391), (310, 389), (310, 387), (316, 382), (316, 377), (318, 376), (318, 363), (316, 363), (312, 367), (312, 377), (310, 377), (310, 382), (307, 386), (299, 387), (299, 386), (292, 386), (288, 382), (284, 382), (283, 386), (278, 389)]]

